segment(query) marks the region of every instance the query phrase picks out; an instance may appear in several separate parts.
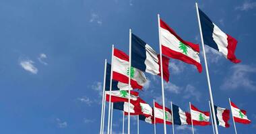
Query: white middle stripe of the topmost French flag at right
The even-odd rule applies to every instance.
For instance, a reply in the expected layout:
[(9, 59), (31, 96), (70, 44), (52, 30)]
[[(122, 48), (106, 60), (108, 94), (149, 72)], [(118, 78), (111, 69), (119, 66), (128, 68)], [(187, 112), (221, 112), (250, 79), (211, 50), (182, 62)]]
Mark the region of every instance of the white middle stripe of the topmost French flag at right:
[(222, 53), (226, 58), (228, 56), (228, 36), (217, 26), (214, 24), (214, 32), (212, 33), (212, 38), (214, 38), (214, 42), (216, 42), (219, 52)]

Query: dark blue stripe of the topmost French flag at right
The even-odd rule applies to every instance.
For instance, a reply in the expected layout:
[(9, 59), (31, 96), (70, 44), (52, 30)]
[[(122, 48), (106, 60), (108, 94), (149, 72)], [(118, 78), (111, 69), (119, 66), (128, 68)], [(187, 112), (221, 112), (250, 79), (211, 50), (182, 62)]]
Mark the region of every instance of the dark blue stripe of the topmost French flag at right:
[(212, 34), (214, 33), (214, 24), (212, 23), (211, 19), (207, 17), (207, 15), (205, 15), (205, 13), (203, 13), (203, 11), (201, 11), (200, 9), (199, 16), (201, 22), (201, 29), (203, 32), (204, 44), (219, 51), (218, 46), (216, 42), (214, 42), (214, 38), (212, 37)]

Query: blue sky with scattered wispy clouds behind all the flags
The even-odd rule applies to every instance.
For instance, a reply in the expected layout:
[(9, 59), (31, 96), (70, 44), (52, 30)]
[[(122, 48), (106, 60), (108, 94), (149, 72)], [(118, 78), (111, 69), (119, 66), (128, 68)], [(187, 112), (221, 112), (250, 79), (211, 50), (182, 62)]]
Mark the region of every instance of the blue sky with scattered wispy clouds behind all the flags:
[[(198, 3), (216, 25), (238, 40), (236, 56), (242, 60), (232, 64), (206, 48), (214, 103), (230, 109), (230, 97), (247, 110), (252, 123), (236, 123), (237, 131), (253, 133), (256, 1)], [(111, 44), (128, 54), (132, 28), (159, 51), (157, 13), (184, 40), (201, 43), (195, 1), (0, 0), (0, 133), (98, 133), (104, 59), (110, 61)], [(146, 75), (141, 98), (150, 105), (153, 98), (161, 103), (160, 77)], [(205, 68), (199, 74), (192, 65), (171, 59), (170, 83), (165, 84), (167, 106), (172, 100), (188, 111), (191, 101), (209, 111), (205, 78)], [(229, 122), (229, 129), (218, 127), (220, 133), (234, 133)], [(120, 111), (114, 111), (113, 123), (113, 131), (120, 133)], [(132, 133), (135, 123), (132, 118)], [(140, 126), (141, 133), (154, 132), (152, 125), (140, 122)], [(195, 129), (212, 132), (212, 126)], [(157, 125), (157, 132), (162, 131), (162, 125)], [(191, 133), (189, 126), (175, 126), (175, 131)]]

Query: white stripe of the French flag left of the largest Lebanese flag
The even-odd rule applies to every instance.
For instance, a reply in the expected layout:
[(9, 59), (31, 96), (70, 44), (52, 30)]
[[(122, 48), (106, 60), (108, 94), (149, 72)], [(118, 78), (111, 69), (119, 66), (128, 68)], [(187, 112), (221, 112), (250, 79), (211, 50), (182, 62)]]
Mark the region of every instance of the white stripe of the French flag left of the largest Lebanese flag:
[(148, 44), (146, 44), (146, 72), (157, 75), (159, 72), (158, 65), (158, 54), (151, 48)]

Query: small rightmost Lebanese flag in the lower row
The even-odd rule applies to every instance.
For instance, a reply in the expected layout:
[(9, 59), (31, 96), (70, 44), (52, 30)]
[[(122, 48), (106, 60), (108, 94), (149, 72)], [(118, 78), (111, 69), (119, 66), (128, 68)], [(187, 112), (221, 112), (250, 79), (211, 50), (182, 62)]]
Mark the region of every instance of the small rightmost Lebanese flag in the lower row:
[(251, 121), (247, 118), (246, 111), (239, 109), (234, 103), (231, 103), (231, 111), (232, 116), (234, 117), (234, 121), (236, 123), (243, 123), (243, 124), (249, 124)]

